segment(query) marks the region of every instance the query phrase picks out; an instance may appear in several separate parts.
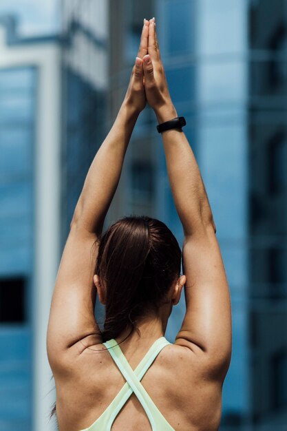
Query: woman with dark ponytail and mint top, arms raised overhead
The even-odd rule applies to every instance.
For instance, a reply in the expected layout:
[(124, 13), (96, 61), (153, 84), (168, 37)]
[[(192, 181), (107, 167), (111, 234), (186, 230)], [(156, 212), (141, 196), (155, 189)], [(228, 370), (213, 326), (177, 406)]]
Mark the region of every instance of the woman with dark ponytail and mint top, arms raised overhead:
[[(158, 123), (177, 117), (154, 19), (144, 21), (127, 94), (87, 173), (56, 277), (47, 355), (61, 431), (213, 431), (220, 425), (231, 302), (209, 200), (180, 127), (162, 132), (162, 141), (184, 231), (184, 275), (178, 242), (159, 220), (126, 217), (102, 234), (147, 102)], [(184, 285), (187, 311), (170, 344), (164, 333)], [(94, 317), (96, 293), (106, 310), (103, 332)]]

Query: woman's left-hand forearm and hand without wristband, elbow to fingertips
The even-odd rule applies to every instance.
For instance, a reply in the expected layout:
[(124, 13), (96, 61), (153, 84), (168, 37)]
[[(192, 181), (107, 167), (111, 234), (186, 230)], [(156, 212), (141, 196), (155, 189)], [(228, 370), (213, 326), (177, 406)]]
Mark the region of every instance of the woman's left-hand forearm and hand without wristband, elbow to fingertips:
[(131, 132), (138, 115), (145, 108), (146, 98), (143, 91), (142, 57), (147, 53), (149, 21), (143, 27), (138, 64), (134, 65), (125, 100), (120, 107), (116, 121), (98, 152), (87, 173), (85, 184), (72, 224), (85, 228), (92, 233), (103, 229), (105, 215), (118, 186), (123, 167), (125, 152)]

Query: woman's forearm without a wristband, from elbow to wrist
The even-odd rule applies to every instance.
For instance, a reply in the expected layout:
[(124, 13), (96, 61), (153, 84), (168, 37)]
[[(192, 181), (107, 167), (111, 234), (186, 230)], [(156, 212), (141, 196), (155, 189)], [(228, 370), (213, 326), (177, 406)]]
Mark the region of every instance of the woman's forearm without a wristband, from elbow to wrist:
[(114, 125), (89, 167), (71, 226), (76, 224), (89, 232), (101, 233), (138, 115), (136, 109), (123, 102)]

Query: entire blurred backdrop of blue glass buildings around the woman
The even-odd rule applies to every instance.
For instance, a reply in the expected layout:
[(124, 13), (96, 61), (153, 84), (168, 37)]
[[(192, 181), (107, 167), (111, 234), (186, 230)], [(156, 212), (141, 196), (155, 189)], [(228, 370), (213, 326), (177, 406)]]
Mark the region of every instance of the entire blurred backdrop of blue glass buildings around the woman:
[[(0, 5), (0, 14), (19, 15), (17, 25), (0, 20), (0, 431), (56, 429), (45, 352), (56, 271), (87, 170), (125, 96), (142, 19), (153, 16), (231, 289), (233, 355), (220, 430), (287, 430), (287, 1), (25, 6)], [(106, 227), (131, 213), (164, 221), (182, 244), (148, 107)], [(182, 300), (170, 341), (183, 315)]]

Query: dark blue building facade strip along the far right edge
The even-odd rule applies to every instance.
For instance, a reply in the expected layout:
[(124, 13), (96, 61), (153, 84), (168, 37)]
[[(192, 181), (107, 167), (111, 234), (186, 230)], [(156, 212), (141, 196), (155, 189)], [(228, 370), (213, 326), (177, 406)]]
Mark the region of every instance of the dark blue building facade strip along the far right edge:
[(251, 2), (248, 22), (251, 412), (256, 430), (279, 431), (287, 428), (287, 2)]

